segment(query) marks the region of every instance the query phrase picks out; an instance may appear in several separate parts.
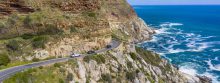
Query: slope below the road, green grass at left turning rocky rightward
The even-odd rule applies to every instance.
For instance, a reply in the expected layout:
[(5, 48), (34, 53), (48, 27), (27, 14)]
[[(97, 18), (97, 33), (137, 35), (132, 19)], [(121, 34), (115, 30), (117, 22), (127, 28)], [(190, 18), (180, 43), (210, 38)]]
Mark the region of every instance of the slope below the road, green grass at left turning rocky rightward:
[[(63, 83), (70, 81), (97, 81), (101, 83), (115, 83), (134, 82), (137, 79), (144, 82), (144, 80), (142, 80), (144, 78), (146, 79), (145, 81), (149, 81), (151, 83), (154, 83), (157, 80), (159, 83), (165, 83), (168, 82), (166, 77), (162, 77), (160, 75), (157, 77), (157, 75), (155, 75), (155, 72), (158, 73), (160, 70), (151, 71), (145, 68), (161, 67), (161, 71), (163, 71), (164, 68), (162, 68), (162, 66), (167, 66), (169, 69), (164, 70), (164, 73), (161, 75), (166, 75), (173, 72), (173, 69), (170, 65), (161, 64), (164, 62), (158, 55), (149, 51), (145, 51), (139, 47), (136, 47), (137, 52), (126, 53), (126, 51), (124, 51), (122, 52), (122, 55), (119, 50), (117, 51), (118, 54), (115, 54), (114, 51), (109, 51), (101, 55), (98, 54), (94, 56), (86, 56), (84, 57), (83, 61), (79, 59), (73, 59), (64, 63), (56, 63), (53, 66), (29, 69), (25, 72), (14, 75), (4, 82), (13, 83), (14, 81), (31, 81), (35, 83)], [(126, 64), (120, 60), (124, 61)], [(152, 65), (147, 65), (145, 62)], [(85, 78), (82, 78), (84, 75)], [(141, 75), (144, 75), (143, 78), (140, 77)], [(85, 80), (83, 81), (83, 79)]]

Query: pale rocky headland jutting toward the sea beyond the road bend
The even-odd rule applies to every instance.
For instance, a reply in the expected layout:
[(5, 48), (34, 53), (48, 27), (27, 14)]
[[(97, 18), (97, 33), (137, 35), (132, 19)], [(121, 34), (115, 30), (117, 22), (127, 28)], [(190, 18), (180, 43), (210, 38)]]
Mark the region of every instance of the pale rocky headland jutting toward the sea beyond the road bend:
[(141, 18), (133, 18), (127, 22), (112, 21), (110, 26), (112, 29), (118, 29), (125, 35), (132, 37), (130, 41), (135, 43), (149, 40), (155, 33), (153, 28), (148, 27)]

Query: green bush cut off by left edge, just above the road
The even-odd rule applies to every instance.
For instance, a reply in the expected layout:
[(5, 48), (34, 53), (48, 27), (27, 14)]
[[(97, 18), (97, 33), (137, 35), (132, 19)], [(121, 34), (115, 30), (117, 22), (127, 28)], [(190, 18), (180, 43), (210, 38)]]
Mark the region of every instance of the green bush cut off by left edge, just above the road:
[(2, 65), (7, 65), (8, 63), (10, 63), (10, 58), (8, 57), (7, 54), (0, 54), (0, 66)]

